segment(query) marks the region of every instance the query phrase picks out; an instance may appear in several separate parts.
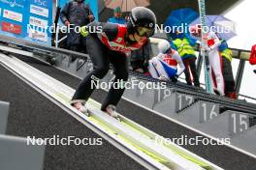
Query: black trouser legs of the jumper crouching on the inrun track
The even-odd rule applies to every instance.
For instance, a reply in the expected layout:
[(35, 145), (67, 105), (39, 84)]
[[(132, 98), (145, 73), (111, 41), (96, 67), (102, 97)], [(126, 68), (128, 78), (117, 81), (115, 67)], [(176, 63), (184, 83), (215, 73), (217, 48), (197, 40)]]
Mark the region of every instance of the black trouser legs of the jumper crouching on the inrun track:
[[(125, 54), (110, 50), (100, 42), (96, 35), (89, 35), (86, 42), (87, 52), (93, 63), (93, 71), (89, 72), (80, 82), (72, 100), (89, 99), (92, 92), (95, 90), (95, 86), (91, 86), (91, 83), (96, 83), (97, 79), (102, 79), (108, 73), (110, 63), (112, 63), (113, 73), (115, 75), (113, 82), (118, 80), (127, 81), (128, 79), (128, 63)], [(116, 106), (121, 99), (124, 90), (124, 88), (111, 88), (101, 109), (105, 111), (106, 107), (110, 104)]]

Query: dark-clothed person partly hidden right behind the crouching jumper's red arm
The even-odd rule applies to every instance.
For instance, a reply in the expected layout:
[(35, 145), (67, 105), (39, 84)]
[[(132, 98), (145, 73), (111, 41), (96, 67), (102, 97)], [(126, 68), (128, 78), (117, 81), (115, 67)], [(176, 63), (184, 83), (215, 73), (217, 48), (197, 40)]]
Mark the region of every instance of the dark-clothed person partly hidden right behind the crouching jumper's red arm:
[(131, 66), (133, 71), (146, 73), (148, 60), (150, 59), (151, 45), (149, 40), (143, 48), (131, 52)]

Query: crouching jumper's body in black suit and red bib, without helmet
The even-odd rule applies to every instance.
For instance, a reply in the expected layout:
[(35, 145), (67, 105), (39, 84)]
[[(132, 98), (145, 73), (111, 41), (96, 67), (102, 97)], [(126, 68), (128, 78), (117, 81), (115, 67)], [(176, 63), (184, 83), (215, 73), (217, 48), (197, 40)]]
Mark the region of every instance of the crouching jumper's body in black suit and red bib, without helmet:
[[(146, 38), (141, 42), (129, 42), (126, 38), (126, 25), (113, 23), (91, 22), (88, 26), (102, 26), (101, 33), (89, 34), (86, 39), (86, 47), (93, 63), (93, 70), (80, 82), (80, 85), (72, 99), (72, 102), (83, 102), (91, 96), (97, 82), (102, 79), (110, 69), (110, 63), (115, 75), (114, 82), (125, 82), (128, 79), (128, 63), (126, 52), (140, 49)], [(93, 85), (93, 83), (95, 83)], [(118, 103), (124, 92), (124, 88), (111, 88), (107, 98), (102, 104), (105, 111), (108, 105)]]

